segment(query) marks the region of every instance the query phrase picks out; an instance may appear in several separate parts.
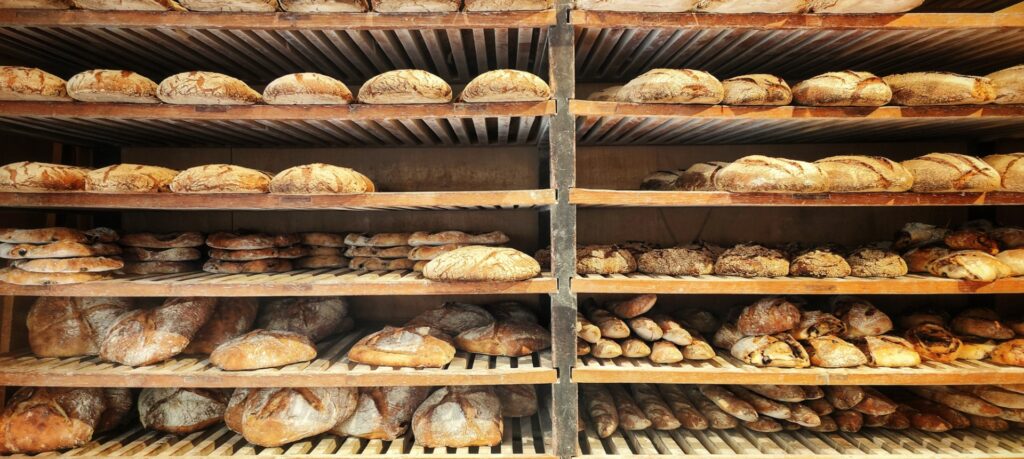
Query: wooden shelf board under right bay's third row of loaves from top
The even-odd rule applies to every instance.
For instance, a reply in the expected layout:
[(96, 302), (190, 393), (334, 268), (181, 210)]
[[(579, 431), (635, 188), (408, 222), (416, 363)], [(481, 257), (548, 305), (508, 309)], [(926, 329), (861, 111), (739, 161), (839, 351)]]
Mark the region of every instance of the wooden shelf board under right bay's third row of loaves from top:
[(1020, 206), (1024, 205), (1024, 193), (822, 193), (790, 195), (572, 189), (569, 194), (569, 203), (582, 207)]

